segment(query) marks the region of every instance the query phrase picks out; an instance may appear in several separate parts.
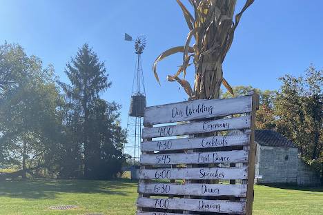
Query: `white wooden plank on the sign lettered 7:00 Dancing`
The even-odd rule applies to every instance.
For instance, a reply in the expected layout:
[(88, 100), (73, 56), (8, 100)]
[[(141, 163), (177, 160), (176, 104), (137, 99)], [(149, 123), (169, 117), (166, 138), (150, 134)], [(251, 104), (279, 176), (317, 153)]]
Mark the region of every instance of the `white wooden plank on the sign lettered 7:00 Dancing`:
[(185, 209), (195, 212), (244, 214), (246, 203), (241, 201), (206, 200), (188, 198), (137, 198), (139, 207)]

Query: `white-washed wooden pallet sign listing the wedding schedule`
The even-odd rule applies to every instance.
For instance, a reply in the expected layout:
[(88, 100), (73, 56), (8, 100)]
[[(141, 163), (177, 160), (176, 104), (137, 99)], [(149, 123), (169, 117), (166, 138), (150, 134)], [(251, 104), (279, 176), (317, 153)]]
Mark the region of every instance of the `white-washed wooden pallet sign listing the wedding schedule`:
[(255, 92), (147, 107), (137, 215), (251, 215), (257, 107)]

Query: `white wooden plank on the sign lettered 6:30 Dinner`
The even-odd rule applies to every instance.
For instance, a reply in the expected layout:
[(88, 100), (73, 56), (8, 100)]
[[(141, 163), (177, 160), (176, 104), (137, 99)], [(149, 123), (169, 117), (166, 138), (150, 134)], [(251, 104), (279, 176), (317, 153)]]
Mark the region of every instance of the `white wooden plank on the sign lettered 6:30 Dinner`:
[(139, 183), (139, 192), (144, 194), (246, 197), (246, 185)]

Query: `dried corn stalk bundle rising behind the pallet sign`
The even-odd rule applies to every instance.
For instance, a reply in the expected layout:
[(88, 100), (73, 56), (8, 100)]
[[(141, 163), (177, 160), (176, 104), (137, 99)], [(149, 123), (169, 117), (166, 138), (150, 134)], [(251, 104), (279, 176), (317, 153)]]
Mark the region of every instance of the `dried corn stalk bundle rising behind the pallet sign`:
[[(226, 53), (231, 47), (235, 28), (239, 24), (242, 13), (251, 6), (254, 0), (246, 0), (244, 8), (235, 15), (236, 0), (188, 0), (194, 8), (195, 16), (187, 10), (180, 0), (176, 0), (182, 8), (184, 18), (190, 32), (183, 46), (170, 48), (161, 53), (153, 64), (153, 72), (157, 81), (157, 63), (177, 52), (183, 53), (183, 62), (179, 70), (168, 75), (168, 81), (177, 81), (188, 94), (189, 99), (218, 99), (221, 84), (233, 94), (231, 86), (223, 77), (222, 63)], [(195, 44), (190, 46), (190, 41)], [(185, 80), (186, 68), (195, 65), (195, 83), (192, 89)], [(183, 79), (179, 78), (183, 74)]]

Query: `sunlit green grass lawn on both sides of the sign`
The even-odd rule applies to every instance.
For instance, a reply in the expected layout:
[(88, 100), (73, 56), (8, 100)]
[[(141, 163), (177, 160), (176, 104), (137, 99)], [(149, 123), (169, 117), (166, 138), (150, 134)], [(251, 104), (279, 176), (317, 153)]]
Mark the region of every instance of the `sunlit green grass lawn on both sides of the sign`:
[[(135, 214), (137, 183), (119, 181), (0, 181), (0, 214)], [(57, 211), (53, 205), (77, 205)], [(255, 186), (255, 215), (323, 214), (323, 187)]]

